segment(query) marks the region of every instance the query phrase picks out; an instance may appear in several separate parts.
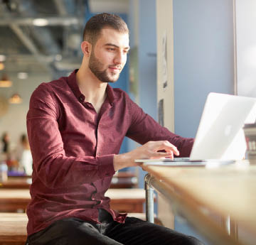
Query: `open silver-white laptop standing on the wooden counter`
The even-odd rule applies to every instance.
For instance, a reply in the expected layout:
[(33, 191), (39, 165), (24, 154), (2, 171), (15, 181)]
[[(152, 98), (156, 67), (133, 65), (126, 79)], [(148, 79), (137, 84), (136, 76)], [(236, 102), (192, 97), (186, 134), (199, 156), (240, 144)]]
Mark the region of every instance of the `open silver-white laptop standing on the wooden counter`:
[[(256, 98), (211, 92), (208, 94), (189, 158), (138, 159), (164, 165), (233, 163), (245, 156), (242, 127), (256, 119)], [(168, 164), (170, 163), (170, 164)]]

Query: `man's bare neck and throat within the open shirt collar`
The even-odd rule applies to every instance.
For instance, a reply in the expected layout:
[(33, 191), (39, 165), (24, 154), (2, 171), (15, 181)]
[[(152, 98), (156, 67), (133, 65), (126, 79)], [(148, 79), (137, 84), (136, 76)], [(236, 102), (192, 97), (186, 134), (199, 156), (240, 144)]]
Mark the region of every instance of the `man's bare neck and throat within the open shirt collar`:
[(80, 91), (85, 95), (85, 101), (92, 104), (95, 111), (99, 113), (107, 97), (107, 82), (100, 82), (90, 70), (82, 70), (81, 68), (76, 74), (76, 79)]

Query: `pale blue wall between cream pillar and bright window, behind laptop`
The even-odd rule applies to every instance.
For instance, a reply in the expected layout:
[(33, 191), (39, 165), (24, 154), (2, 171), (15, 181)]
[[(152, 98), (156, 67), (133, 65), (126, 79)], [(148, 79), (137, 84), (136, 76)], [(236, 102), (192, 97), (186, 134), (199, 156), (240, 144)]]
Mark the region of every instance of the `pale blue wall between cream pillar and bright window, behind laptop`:
[(233, 0), (174, 0), (175, 131), (196, 136), (209, 92), (233, 94)]

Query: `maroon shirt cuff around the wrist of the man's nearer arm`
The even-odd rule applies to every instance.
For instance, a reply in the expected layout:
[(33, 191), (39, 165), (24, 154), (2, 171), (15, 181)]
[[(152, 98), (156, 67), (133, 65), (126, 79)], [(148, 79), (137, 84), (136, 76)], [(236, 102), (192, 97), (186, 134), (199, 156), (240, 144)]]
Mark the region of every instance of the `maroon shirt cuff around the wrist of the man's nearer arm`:
[(114, 155), (98, 156), (97, 162), (99, 166), (100, 178), (105, 178), (114, 175)]

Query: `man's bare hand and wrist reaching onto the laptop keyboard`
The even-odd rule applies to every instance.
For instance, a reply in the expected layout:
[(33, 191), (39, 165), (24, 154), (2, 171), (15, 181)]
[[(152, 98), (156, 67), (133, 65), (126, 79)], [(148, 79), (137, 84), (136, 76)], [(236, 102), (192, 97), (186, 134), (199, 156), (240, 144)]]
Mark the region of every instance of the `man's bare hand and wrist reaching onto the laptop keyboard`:
[[(165, 152), (160, 152), (165, 151)], [(176, 146), (169, 141), (149, 141), (143, 146), (140, 146), (133, 151), (114, 156), (114, 170), (117, 171), (122, 168), (137, 166), (140, 163), (135, 163), (136, 159), (148, 158), (174, 158), (178, 156), (179, 152)]]

